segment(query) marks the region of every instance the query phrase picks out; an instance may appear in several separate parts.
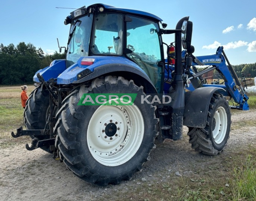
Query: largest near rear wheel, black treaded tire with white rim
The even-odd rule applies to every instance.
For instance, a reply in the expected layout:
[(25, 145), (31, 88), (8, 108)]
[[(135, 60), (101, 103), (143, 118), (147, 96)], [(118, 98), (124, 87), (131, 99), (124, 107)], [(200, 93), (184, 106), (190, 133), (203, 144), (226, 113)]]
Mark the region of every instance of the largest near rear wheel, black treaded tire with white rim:
[(156, 108), (138, 99), (134, 105), (78, 106), (84, 93), (146, 96), (143, 87), (123, 77), (97, 78), (91, 87), (83, 85), (63, 100), (54, 127), (60, 159), (79, 178), (103, 186), (131, 179), (150, 159), (159, 121)]

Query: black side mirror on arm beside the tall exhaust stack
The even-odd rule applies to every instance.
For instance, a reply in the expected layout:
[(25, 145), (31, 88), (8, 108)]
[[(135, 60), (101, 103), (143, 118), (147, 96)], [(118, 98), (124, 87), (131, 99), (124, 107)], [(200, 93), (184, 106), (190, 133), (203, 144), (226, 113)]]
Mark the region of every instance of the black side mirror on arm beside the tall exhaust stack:
[(181, 28), (181, 40), (182, 47), (187, 50), (191, 46), (191, 38), (192, 38), (192, 27), (193, 23), (188, 20), (184, 20)]

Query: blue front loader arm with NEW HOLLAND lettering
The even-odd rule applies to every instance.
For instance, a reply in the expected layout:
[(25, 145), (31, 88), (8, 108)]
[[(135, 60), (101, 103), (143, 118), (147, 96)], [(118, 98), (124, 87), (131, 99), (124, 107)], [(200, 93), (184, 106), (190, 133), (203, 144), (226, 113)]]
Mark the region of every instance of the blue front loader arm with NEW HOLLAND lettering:
[[(226, 64), (226, 61), (228, 65)], [(203, 74), (212, 71), (217, 70), (224, 79), (224, 84), (203, 84), (203, 87), (209, 87), (209, 86), (215, 86), (215, 87), (221, 87), (225, 90), (222, 94), (224, 96), (230, 96), (234, 99), (236, 103), (239, 104), (239, 106), (233, 106), (232, 109), (241, 109), (241, 110), (249, 110), (249, 106), (247, 104), (247, 100), (249, 99), (248, 96), (244, 93), (243, 88), (241, 87), (241, 83), (237, 77), (237, 74), (235, 73), (232, 65), (229, 63), (227, 56), (225, 52), (223, 51), (223, 47), (219, 47), (216, 51), (216, 54), (213, 55), (206, 55), (206, 56), (199, 56), (199, 57), (193, 57), (192, 66), (209, 66), (208, 68), (205, 68), (204, 70), (200, 71), (199, 73), (194, 74), (188, 79), (194, 79), (199, 76), (202, 76)], [(240, 92), (237, 88), (237, 86), (240, 88)]]

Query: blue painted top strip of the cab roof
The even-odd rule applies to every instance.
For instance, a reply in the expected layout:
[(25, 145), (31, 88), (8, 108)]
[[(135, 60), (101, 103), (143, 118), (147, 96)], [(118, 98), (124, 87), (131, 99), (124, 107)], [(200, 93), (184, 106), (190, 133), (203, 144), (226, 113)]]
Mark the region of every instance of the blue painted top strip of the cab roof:
[[(116, 7), (113, 7), (113, 6), (110, 6), (110, 5), (106, 5), (106, 4), (94, 4), (94, 5), (102, 5), (103, 7), (105, 7), (105, 9), (111, 9), (111, 10), (116, 10), (118, 12), (126, 12), (126, 13), (131, 13), (131, 14), (134, 14), (134, 15), (144, 15), (146, 18), (147, 17), (150, 17), (150, 18), (153, 18), (155, 19), (157, 22), (162, 22), (163, 20), (160, 18), (160, 17), (157, 17), (151, 13), (147, 13), (147, 12), (143, 12), (143, 11), (140, 11), (140, 10), (131, 10), (131, 9), (124, 9), (124, 8), (116, 8)], [(91, 6), (94, 6), (94, 5), (91, 5)], [(88, 6), (91, 7), (91, 6)]]

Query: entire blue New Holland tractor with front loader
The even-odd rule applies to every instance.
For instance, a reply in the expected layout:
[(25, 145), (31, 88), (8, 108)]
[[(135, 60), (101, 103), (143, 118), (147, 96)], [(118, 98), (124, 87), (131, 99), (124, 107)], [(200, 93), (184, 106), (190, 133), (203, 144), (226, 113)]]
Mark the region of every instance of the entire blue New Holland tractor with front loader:
[[(71, 12), (64, 23), (71, 25), (66, 59), (35, 74), (37, 87), (24, 111), (27, 130), (18, 128), (12, 136), (31, 136), (28, 150), (52, 153), (91, 184), (131, 179), (150, 160), (155, 138), (178, 140), (183, 125), (193, 149), (216, 155), (230, 133), (227, 97), (238, 104), (232, 108), (249, 109), (223, 47), (214, 55), (193, 55), (188, 17), (166, 29), (150, 13), (93, 4)], [(175, 42), (165, 44), (163, 34), (175, 34)], [(197, 72), (195, 66), (206, 68)], [(215, 69), (225, 84), (204, 82), (202, 75)], [(140, 99), (133, 105), (81, 106), (84, 94), (137, 94)], [(171, 102), (154, 104), (157, 94)]]

